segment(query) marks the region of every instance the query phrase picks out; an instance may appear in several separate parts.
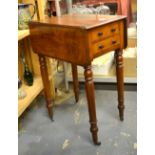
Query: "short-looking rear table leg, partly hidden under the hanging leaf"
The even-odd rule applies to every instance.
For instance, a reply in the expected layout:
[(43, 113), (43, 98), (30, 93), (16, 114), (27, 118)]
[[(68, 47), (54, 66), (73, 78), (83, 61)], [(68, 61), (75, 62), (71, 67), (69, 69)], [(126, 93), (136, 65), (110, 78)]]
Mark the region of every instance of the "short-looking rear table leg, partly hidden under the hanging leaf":
[(74, 94), (75, 94), (75, 101), (78, 102), (79, 82), (78, 82), (77, 66), (75, 64), (72, 64), (72, 77), (73, 77), (73, 89), (74, 89)]

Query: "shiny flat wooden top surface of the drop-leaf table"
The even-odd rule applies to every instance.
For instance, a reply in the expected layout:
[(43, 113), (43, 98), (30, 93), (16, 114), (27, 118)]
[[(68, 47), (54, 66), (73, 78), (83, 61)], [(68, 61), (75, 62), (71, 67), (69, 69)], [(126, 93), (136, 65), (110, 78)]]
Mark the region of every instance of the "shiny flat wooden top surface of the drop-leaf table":
[(114, 22), (117, 20), (122, 20), (126, 18), (125, 16), (118, 15), (99, 15), (96, 18), (94, 14), (67, 14), (62, 15), (60, 17), (52, 17), (45, 18), (39, 21), (32, 21), (37, 24), (47, 24), (47, 25), (55, 25), (55, 26), (63, 26), (63, 27), (77, 27), (83, 29), (91, 29), (93, 27), (98, 27), (104, 24), (108, 24), (110, 22)]

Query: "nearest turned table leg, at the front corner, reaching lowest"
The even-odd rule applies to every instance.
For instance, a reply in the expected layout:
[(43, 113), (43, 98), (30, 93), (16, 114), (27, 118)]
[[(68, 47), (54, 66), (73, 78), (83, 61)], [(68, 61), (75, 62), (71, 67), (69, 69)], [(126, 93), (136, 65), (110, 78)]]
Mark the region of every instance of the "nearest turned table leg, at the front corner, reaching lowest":
[(98, 141), (98, 135), (97, 135), (98, 127), (96, 119), (94, 82), (91, 66), (85, 67), (84, 75), (85, 75), (85, 89), (87, 94), (88, 111), (89, 111), (90, 131), (92, 133), (94, 144), (100, 145), (101, 142)]

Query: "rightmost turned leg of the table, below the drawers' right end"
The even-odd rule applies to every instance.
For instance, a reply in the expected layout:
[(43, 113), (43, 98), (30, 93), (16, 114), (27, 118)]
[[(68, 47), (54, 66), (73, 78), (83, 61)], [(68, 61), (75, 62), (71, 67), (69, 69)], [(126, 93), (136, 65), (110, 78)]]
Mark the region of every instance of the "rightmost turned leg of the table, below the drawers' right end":
[(115, 51), (116, 60), (116, 76), (117, 76), (117, 91), (118, 91), (118, 109), (120, 120), (124, 120), (124, 75), (123, 75), (123, 56), (121, 50)]

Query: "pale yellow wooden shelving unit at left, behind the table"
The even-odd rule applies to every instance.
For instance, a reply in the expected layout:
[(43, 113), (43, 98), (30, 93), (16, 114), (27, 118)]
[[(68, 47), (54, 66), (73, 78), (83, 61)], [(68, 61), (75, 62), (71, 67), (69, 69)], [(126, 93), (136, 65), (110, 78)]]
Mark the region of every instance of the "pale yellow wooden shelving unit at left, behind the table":
[[(37, 13), (34, 19), (44, 18), (44, 8), (43, 0), (19, 0), (19, 3), (32, 3), (36, 5)], [(38, 55), (32, 51), (31, 43), (29, 41), (29, 30), (18, 30), (18, 75), (22, 80), (22, 89), (26, 92), (26, 97), (18, 101), (18, 117), (25, 111), (25, 109), (31, 104), (31, 102), (36, 98), (36, 96), (43, 90), (43, 84), (40, 73), (39, 59)], [(26, 63), (28, 64), (31, 72), (34, 76), (33, 86), (27, 86), (24, 84), (24, 66), (21, 61), (21, 52), (24, 53)], [(46, 58), (47, 59), (47, 58)], [(55, 88), (54, 88), (54, 78), (51, 69), (51, 61), (46, 60), (48, 63), (48, 72), (50, 79), (50, 90), (53, 98), (55, 98)]]

